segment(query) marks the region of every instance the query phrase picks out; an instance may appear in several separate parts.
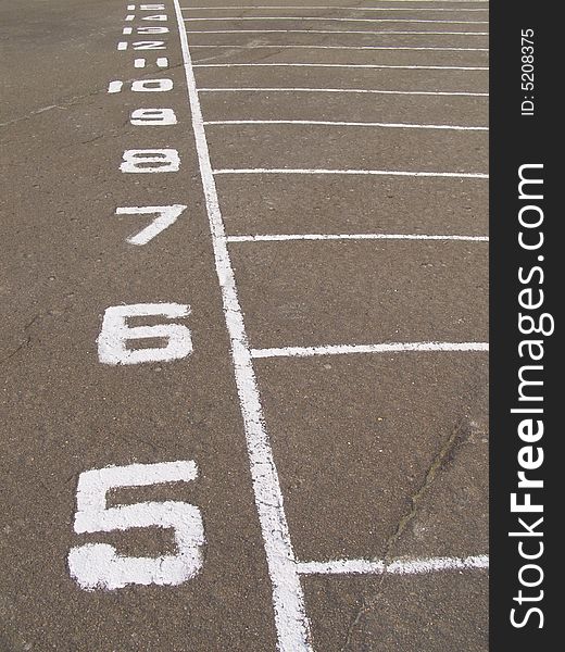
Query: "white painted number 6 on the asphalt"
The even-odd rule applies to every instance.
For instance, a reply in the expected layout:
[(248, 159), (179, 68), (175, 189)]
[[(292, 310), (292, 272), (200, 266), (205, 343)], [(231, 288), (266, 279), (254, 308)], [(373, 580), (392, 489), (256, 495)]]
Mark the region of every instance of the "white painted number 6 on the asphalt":
[[(188, 305), (179, 303), (133, 303), (112, 305), (104, 312), (102, 328), (98, 336), (98, 359), (102, 364), (141, 364), (146, 362), (171, 362), (192, 352), (190, 330), (181, 324), (154, 326), (128, 326), (131, 317), (163, 316), (167, 319), (186, 317)], [(127, 342), (143, 339), (164, 339), (163, 347), (128, 349)]]

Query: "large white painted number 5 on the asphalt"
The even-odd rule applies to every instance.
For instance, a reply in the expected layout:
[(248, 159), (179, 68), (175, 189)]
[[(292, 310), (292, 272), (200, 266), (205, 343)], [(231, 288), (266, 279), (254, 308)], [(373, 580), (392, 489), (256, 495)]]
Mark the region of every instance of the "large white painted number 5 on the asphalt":
[(143, 502), (106, 506), (106, 493), (120, 487), (148, 487), (188, 482), (198, 477), (192, 461), (110, 466), (81, 473), (76, 492), (75, 532), (111, 532), (140, 527), (171, 528), (177, 553), (160, 557), (118, 555), (108, 543), (72, 548), (68, 569), (86, 590), (121, 589), (126, 585), (176, 586), (194, 577), (202, 567), (204, 525), (200, 510), (179, 502)]

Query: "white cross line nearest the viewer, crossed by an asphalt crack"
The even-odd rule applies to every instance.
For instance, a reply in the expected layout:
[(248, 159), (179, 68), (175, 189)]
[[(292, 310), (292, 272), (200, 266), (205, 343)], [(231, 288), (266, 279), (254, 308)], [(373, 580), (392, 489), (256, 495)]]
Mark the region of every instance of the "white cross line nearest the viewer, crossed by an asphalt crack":
[(302, 575), (416, 575), (441, 570), (473, 570), (489, 567), (486, 554), (467, 557), (382, 560), (334, 560), (331, 562), (299, 562)]

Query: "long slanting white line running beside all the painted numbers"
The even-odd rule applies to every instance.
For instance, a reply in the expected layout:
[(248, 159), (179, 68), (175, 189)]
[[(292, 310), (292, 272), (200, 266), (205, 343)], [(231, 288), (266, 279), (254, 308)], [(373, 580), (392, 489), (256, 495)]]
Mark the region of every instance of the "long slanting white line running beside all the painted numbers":
[(297, 573), (282, 492), (273, 450), (265, 430), (251, 351), (237, 296), (234, 269), (229, 260), (183, 14), (178, 0), (173, 1), (178, 23), (188, 100), (192, 114), (192, 129), (210, 221), (216, 273), (222, 290), (226, 327), (231, 343), (235, 379), (246, 429), (255, 505), (273, 586), (278, 649), (280, 652), (306, 652), (312, 648), (304, 597)]

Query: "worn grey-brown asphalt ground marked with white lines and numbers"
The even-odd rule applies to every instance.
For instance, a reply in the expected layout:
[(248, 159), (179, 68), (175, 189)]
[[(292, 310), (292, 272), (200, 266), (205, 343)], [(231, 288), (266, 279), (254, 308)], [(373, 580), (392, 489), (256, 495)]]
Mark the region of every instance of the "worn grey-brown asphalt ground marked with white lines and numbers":
[[(0, 0), (0, 650), (485, 652), (488, 4), (229, 2)], [(121, 170), (143, 149), (179, 170)], [(153, 216), (117, 208), (173, 204), (127, 241)], [(162, 303), (186, 315), (128, 327), (191, 352), (105, 364), (106, 310)], [(196, 507), (190, 576), (81, 586), (72, 549), (179, 554), (170, 525), (79, 531), (81, 474), (179, 461), (102, 498)]]

